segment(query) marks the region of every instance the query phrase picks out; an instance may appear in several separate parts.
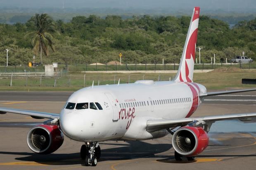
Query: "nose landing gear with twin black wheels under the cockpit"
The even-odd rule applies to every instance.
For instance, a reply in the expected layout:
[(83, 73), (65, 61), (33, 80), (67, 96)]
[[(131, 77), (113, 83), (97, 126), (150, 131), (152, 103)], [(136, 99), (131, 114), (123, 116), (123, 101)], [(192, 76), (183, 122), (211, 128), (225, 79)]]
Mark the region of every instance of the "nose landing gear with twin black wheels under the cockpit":
[(80, 156), (85, 160), (85, 166), (96, 166), (100, 159), (100, 146), (97, 142), (85, 142), (81, 146)]

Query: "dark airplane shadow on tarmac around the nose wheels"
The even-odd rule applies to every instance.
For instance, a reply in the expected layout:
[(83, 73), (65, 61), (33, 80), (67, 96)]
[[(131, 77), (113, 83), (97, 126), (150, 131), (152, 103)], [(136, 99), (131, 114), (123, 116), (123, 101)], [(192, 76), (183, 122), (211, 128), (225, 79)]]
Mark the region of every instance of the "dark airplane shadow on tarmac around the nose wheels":
[[(134, 158), (154, 157), (154, 154), (168, 151), (172, 148), (171, 144), (149, 144), (142, 141), (126, 141), (128, 144), (112, 144), (120, 147), (102, 149), (100, 161), (127, 160)], [(110, 145), (110, 144), (109, 144)], [(60, 148), (61, 149), (61, 148)], [(84, 165), (84, 161), (80, 158), (80, 153), (72, 154), (48, 154), (39, 155), (29, 152), (5, 152), (0, 154), (20, 155), (22, 157), (15, 158), (19, 161), (36, 162), (45, 165)], [(24, 157), (25, 156), (25, 157)]]

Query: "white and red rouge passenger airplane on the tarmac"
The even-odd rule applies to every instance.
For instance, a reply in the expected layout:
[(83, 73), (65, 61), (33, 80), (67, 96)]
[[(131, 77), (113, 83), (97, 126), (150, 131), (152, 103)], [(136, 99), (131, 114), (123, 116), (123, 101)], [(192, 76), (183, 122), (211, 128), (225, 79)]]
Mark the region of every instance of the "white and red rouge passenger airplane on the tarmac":
[(48, 118), (27, 135), (28, 147), (37, 154), (50, 154), (64, 135), (84, 142), (80, 155), (86, 166), (100, 159), (99, 142), (148, 140), (171, 133), (175, 160), (194, 160), (209, 144), (212, 123), (227, 119), (250, 121), (256, 113), (191, 117), (206, 96), (256, 91), (243, 89), (207, 93), (193, 82), (199, 7), (194, 7), (180, 66), (172, 81), (138, 80), (131, 84), (90, 86), (74, 92), (60, 114), (0, 107), (0, 113)]

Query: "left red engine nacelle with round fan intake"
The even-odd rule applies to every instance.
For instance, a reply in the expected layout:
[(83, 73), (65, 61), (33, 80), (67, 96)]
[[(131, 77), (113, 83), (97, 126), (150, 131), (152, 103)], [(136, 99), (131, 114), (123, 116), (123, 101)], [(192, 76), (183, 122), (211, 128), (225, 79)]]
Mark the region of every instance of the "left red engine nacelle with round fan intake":
[(64, 135), (57, 125), (38, 125), (27, 135), (28, 147), (37, 154), (50, 154), (62, 146)]

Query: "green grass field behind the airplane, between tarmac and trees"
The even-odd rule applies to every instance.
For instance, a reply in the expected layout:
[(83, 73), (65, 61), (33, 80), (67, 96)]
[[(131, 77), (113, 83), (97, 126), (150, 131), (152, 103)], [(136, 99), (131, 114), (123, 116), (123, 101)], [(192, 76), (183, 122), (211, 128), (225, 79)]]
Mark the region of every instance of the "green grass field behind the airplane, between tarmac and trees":
[[(115, 74), (115, 73), (86, 73), (85, 86), (98, 84), (133, 83), (139, 79), (152, 79), (154, 81), (168, 81), (175, 74)], [(213, 72), (194, 73), (194, 82), (203, 84), (208, 90), (230, 89), (230, 88), (252, 88), (256, 85), (242, 84), (242, 78), (256, 79), (256, 70), (242, 70), (238, 68), (218, 68)], [(55, 85), (56, 81), (56, 86)], [(0, 76), (1, 91), (76, 91), (84, 86), (84, 74), (72, 73), (62, 77), (16, 77)]]

